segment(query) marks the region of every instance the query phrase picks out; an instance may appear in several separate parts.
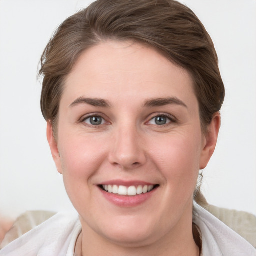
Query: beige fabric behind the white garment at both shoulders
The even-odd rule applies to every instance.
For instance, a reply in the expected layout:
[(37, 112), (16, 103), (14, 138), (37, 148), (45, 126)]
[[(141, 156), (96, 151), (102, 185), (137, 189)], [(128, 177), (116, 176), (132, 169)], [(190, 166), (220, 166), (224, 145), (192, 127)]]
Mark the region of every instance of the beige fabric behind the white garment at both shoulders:
[[(256, 216), (244, 211), (229, 210), (210, 205), (203, 196), (200, 197), (199, 201), (197, 199), (197, 202), (256, 248)], [(0, 248), (3, 248), (54, 214), (51, 211), (27, 211), (20, 215), (6, 233)]]

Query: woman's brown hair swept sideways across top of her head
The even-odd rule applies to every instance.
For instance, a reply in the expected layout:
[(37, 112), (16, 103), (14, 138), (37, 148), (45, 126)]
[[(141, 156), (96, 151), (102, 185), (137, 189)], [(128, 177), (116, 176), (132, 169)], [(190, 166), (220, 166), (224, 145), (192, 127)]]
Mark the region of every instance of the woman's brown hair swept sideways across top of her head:
[(196, 15), (174, 0), (97, 0), (67, 18), (41, 57), (41, 111), (57, 124), (65, 77), (80, 54), (107, 39), (145, 43), (185, 68), (194, 81), (202, 130), (224, 100), (213, 42)]

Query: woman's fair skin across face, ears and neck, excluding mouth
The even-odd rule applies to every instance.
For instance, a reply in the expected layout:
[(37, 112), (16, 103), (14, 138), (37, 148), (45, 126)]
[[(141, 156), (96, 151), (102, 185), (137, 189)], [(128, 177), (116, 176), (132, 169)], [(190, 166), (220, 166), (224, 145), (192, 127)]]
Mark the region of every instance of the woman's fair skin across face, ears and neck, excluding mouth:
[[(156, 116), (167, 116), (166, 123)], [(47, 124), (53, 159), (80, 216), (83, 255), (198, 255), (193, 191), (219, 126), (215, 113), (202, 133), (189, 73), (155, 50), (105, 41), (83, 52), (64, 84), (56, 138)], [(143, 203), (120, 207), (98, 186), (115, 179), (158, 187)]]

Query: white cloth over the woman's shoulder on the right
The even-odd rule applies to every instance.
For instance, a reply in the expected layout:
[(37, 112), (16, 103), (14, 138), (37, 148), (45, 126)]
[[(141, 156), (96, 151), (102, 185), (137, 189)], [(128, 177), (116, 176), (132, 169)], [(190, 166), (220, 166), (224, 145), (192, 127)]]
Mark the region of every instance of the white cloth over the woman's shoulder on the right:
[(256, 256), (256, 249), (207, 210), (194, 203), (193, 221), (200, 228), (203, 255)]

